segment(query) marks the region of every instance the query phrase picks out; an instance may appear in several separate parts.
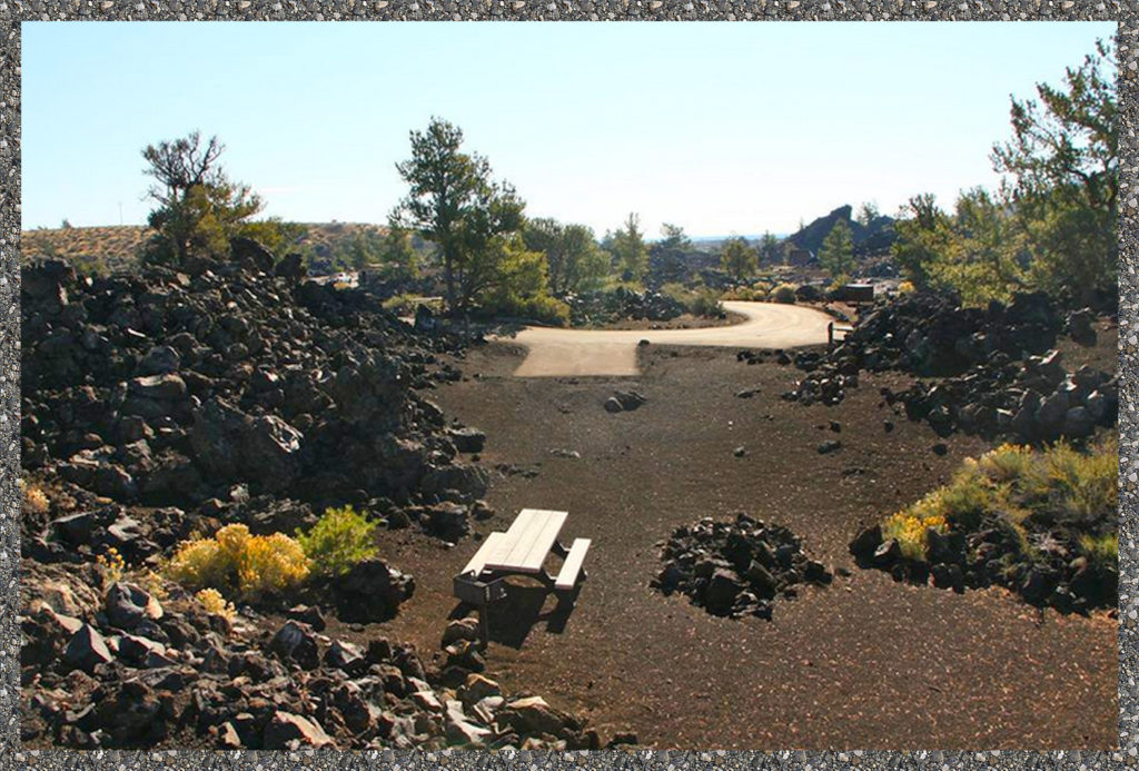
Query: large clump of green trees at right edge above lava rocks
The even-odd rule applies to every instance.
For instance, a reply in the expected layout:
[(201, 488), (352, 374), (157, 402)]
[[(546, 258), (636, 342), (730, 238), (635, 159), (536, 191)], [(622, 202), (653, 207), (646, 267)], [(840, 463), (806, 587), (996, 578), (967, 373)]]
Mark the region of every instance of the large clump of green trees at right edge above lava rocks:
[(1063, 88), (1038, 84), (1039, 104), (1013, 99), (1013, 138), (992, 154), (1003, 174), (997, 195), (965, 191), (952, 214), (931, 195), (910, 200), (893, 254), (915, 286), (956, 289), (973, 305), (1025, 289), (1114, 296), (1114, 50), (1099, 43)]

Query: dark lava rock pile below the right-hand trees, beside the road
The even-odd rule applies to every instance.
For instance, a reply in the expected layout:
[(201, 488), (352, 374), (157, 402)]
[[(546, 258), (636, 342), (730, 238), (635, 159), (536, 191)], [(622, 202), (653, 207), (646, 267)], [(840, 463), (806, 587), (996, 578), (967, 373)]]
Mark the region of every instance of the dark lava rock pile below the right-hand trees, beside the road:
[[(1075, 312), (1066, 326), (1084, 343), (1088, 317)], [(933, 379), (884, 391), (886, 402), (900, 402), (911, 419), (928, 421), (942, 436), (956, 430), (1023, 442), (1088, 436), (1097, 426), (1114, 425), (1118, 382), (1089, 367), (1065, 369), (1054, 348), (1063, 328), (1042, 293), (985, 309), (961, 307), (953, 295), (906, 295), (879, 303), (829, 353), (780, 359), (808, 374), (784, 399), (837, 404), (858, 387), (861, 371), (899, 370)]]

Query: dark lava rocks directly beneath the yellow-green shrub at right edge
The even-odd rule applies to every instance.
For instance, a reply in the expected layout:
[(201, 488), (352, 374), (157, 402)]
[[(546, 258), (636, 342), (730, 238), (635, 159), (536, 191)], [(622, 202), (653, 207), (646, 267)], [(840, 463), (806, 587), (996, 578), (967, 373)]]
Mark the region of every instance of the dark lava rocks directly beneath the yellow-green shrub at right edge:
[(1032, 605), (1060, 613), (1114, 607), (1118, 568), (1083, 556), (1079, 532), (1063, 524), (1030, 532), (1030, 555), (1006, 515), (990, 512), (970, 532), (927, 530), (926, 559), (903, 556), (898, 541), (883, 540), (878, 525), (861, 531), (850, 551), (860, 567), (886, 571), (896, 581), (958, 592), (1005, 587)]

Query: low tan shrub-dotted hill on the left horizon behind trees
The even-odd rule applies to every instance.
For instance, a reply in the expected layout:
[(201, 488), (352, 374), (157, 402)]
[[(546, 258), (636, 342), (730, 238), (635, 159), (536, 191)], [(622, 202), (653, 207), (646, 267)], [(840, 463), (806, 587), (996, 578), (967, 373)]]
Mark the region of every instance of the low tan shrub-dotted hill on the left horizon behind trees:
[[(318, 263), (345, 249), (359, 233), (383, 236), (386, 225), (370, 222), (302, 222), (304, 235), (295, 248), (310, 251)], [(95, 228), (39, 228), (21, 235), (25, 259), (59, 257), (100, 272), (130, 269), (154, 230), (146, 225), (100, 225)]]

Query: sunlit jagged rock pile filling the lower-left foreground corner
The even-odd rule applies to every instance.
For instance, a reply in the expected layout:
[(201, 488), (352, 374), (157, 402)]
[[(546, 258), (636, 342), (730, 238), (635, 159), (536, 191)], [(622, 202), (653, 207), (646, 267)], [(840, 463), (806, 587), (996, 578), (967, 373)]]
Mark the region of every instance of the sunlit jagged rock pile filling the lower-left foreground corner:
[[(598, 748), (596, 731), (535, 696), (384, 638), (285, 618), (211, 615), (169, 585), (25, 560), (21, 717), (25, 747)], [(476, 667), (481, 669), (481, 667)]]

